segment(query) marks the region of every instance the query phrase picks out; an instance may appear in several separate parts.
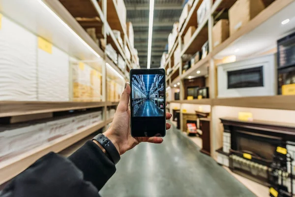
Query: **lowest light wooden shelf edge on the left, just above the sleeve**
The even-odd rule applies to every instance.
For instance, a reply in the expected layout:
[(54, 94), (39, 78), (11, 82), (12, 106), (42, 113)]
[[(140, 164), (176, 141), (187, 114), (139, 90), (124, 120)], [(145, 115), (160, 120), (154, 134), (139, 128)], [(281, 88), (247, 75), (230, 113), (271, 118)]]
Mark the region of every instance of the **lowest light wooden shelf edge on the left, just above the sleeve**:
[(26, 153), (16, 156), (12, 159), (0, 163), (0, 185), (9, 181), (14, 176), (25, 170), (29, 165), (33, 164), (37, 159), (49, 152), (59, 152), (70, 145), (78, 142), (89, 134), (103, 128), (107, 123), (94, 123), (86, 128), (76, 132), (59, 137), (49, 143), (34, 148)]

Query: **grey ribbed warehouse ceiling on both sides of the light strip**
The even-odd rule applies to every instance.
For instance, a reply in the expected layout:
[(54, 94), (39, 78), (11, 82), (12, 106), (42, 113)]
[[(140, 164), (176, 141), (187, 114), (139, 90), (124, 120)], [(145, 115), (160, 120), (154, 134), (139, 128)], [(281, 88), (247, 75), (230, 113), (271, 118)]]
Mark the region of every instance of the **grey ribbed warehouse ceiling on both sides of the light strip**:
[[(131, 21), (134, 30), (134, 47), (138, 50), (140, 66), (147, 67), (148, 62), (148, 17), (149, 0), (124, 0), (127, 9), (127, 21)], [(174, 22), (178, 21), (184, 0), (155, 0), (150, 67), (160, 66), (162, 53), (167, 51), (168, 35)]]

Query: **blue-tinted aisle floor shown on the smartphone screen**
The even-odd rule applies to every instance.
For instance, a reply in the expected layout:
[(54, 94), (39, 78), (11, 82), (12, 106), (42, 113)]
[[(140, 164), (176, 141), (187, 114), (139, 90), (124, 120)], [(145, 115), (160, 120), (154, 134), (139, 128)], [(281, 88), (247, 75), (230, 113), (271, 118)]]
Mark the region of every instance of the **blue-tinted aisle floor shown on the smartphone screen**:
[(163, 111), (155, 106), (151, 100), (146, 100), (145, 103), (138, 109), (136, 116), (163, 116)]

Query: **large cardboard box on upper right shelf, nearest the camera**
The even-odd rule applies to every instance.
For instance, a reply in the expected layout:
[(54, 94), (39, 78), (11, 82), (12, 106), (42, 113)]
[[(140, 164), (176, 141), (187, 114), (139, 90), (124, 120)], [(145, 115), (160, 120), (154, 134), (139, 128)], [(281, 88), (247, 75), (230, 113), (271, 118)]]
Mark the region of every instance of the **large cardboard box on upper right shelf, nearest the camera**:
[(246, 25), (264, 8), (262, 0), (237, 0), (229, 10), (230, 35)]

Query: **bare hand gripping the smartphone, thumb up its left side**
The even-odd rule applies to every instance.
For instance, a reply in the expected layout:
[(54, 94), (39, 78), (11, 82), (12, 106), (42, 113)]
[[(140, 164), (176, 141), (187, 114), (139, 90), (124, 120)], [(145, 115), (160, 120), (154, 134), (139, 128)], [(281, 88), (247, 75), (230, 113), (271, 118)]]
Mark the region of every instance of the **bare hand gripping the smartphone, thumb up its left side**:
[[(128, 107), (130, 100), (131, 88), (128, 82), (125, 83), (125, 89), (122, 93), (118, 104), (114, 120), (111, 127), (103, 134), (108, 137), (116, 146), (120, 155), (132, 149), (140, 142), (150, 142), (160, 144), (163, 142), (161, 137), (132, 137), (130, 129), (131, 111)], [(171, 118), (171, 114), (166, 112), (166, 120)], [(166, 129), (170, 129), (171, 125), (166, 123)]]

